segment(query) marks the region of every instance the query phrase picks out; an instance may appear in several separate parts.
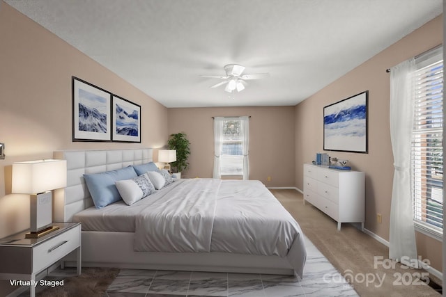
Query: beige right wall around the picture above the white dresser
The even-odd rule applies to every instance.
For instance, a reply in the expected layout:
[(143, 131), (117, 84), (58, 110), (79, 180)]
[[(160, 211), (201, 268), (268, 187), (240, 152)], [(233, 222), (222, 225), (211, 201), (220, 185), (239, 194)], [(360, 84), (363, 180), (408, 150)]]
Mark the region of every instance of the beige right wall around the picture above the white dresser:
[[(295, 106), (295, 183), (302, 189), (302, 164), (311, 162), (316, 152), (323, 151), (323, 106), (369, 90), (369, 153), (328, 154), (348, 159), (353, 169), (365, 172), (365, 227), (386, 241), (389, 240), (394, 168), (389, 124), (390, 74), (385, 70), (442, 42), (443, 16), (440, 16)], [(383, 223), (376, 223), (377, 213), (382, 214)], [(417, 249), (419, 255), (441, 271), (439, 241), (417, 234)]]

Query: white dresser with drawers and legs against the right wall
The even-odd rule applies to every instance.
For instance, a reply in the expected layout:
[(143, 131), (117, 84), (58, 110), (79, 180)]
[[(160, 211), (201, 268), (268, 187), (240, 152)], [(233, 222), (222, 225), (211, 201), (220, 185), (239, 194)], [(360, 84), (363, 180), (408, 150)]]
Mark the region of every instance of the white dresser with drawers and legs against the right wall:
[(361, 223), (364, 229), (364, 172), (304, 164), (305, 200), (341, 223)]

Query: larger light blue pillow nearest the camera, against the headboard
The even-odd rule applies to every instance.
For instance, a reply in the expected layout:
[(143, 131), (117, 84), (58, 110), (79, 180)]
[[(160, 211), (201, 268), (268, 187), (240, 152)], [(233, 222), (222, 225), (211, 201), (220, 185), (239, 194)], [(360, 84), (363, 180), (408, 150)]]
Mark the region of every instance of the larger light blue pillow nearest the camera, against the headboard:
[(107, 206), (113, 202), (121, 200), (115, 182), (117, 180), (131, 179), (137, 177), (132, 166), (125, 168), (84, 175), (86, 186), (89, 188), (91, 198), (97, 209)]

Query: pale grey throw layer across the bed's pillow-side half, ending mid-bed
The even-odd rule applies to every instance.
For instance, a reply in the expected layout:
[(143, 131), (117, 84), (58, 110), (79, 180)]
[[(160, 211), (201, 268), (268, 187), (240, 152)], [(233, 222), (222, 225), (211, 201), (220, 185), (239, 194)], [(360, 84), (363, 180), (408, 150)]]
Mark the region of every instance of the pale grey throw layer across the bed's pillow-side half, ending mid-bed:
[(136, 218), (134, 250), (210, 252), (220, 184), (220, 179), (183, 179), (160, 191)]

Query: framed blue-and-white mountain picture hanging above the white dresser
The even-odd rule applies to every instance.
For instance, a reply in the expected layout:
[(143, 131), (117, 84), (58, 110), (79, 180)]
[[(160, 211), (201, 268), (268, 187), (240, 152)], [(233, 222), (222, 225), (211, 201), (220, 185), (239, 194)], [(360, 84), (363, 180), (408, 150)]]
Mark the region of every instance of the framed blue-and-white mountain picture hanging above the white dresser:
[(323, 150), (368, 152), (369, 91), (323, 108)]

